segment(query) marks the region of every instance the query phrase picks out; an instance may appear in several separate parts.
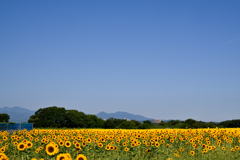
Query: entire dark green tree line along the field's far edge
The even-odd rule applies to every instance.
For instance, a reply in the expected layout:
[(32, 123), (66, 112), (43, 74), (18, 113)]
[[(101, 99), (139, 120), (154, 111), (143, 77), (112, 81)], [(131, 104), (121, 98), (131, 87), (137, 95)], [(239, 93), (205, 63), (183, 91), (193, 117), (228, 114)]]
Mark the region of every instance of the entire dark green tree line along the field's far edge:
[[(0, 114), (0, 122), (8, 122), (9, 115)], [(151, 128), (237, 128), (240, 119), (227, 120), (220, 123), (203, 122), (194, 119), (185, 121), (170, 120), (155, 124), (149, 120), (139, 122), (136, 120), (109, 118), (103, 120), (96, 115), (86, 115), (77, 110), (66, 110), (63, 107), (47, 107), (38, 109), (28, 123), (35, 128), (104, 128), (104, 129), (151, 129)]]

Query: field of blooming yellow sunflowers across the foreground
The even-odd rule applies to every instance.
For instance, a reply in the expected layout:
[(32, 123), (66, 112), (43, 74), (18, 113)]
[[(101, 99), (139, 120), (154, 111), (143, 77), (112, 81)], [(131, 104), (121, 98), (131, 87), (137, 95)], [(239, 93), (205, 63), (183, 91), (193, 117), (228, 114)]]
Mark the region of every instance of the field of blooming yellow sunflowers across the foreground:
[(240, 129), (34, 129), (0, 132), (0, 160), (240, 159)]

